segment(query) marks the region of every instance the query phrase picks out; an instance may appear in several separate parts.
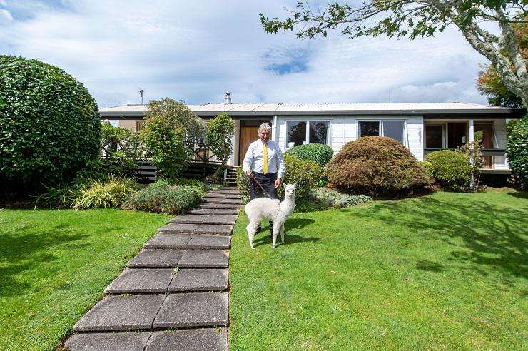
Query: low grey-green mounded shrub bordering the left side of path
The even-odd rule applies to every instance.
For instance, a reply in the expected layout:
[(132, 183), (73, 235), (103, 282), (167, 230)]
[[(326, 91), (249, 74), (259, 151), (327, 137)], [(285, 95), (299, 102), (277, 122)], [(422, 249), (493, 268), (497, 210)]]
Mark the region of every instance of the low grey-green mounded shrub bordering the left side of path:
[(133, 193), (123, 208), (177, 214), (196, 207), (202, 196), (196, 186), (170, 185), (163, 180)]

